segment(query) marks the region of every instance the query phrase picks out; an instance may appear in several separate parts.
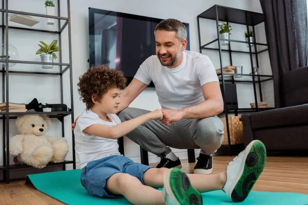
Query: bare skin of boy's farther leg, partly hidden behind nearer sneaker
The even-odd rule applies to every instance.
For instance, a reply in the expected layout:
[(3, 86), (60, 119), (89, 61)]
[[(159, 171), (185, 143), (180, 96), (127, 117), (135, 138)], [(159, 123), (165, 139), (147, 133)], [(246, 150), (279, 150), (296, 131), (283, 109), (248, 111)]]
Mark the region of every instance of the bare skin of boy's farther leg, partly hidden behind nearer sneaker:
[[(164, 175), (168, 170), (167, 168), (148, 169), (143, 175), (144, 184), (155, 188), (162, 187)], [(211, 175), (187, 174), (187, 176), (191, 186), (201, 193), (222, 190), (226, 182), (226, 172)]]

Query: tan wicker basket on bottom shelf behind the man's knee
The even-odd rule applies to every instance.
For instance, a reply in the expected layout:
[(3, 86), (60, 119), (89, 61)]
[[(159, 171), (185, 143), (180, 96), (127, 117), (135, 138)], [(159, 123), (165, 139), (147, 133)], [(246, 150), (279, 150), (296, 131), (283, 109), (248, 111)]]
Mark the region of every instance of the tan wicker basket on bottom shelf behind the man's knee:
[[(220, 118), (224, 125), (224, 139), (222, 145), (228, 145), (228, 133), (227, 133), (227, 124), (226, 118)], [(229, 122), (229, 133), (230, 133), (230, 144), (238, 145), (244, 143), (243, 138), (243, 123), (241, 116), (228, 117)]]

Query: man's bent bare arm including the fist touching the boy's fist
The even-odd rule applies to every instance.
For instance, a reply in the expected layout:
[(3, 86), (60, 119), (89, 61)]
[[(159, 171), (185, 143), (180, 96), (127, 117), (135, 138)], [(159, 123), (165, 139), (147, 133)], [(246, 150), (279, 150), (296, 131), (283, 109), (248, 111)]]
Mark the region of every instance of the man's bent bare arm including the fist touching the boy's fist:
[(202, 93), (205, 101), (186, 107), (180, 110), (162, 110), (164, 117), (161, 120), (165, 125), (171, 125), (172, 121), (179, 121), (182, 118), (201, 119), (218, 115), (223, 112), (223, 98), (219, 83), (209, 82), (202, 86)]

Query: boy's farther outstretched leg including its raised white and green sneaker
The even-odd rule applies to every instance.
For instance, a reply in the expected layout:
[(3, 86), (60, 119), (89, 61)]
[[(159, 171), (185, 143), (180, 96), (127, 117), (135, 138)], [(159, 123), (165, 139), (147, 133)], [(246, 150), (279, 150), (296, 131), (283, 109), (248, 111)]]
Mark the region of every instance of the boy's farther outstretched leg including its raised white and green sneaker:
[[(266, 162), (266, 148), (260, 140), (253, 140), (219, 174), (186, 174), (191, 186), (199, 192), (223, 190), (234, 202), (246, 199), (262, 173)], [(144, 173), (144, 183), (161, 187), (166, 169), (149, 169)]]

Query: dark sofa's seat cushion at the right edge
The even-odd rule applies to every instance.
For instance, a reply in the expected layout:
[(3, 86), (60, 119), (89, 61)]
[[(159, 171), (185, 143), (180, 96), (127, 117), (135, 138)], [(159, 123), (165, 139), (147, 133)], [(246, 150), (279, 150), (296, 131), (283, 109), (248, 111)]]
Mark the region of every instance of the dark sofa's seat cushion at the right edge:
[(308, 104), (251, 114), (252, 129), (308, 124)]

